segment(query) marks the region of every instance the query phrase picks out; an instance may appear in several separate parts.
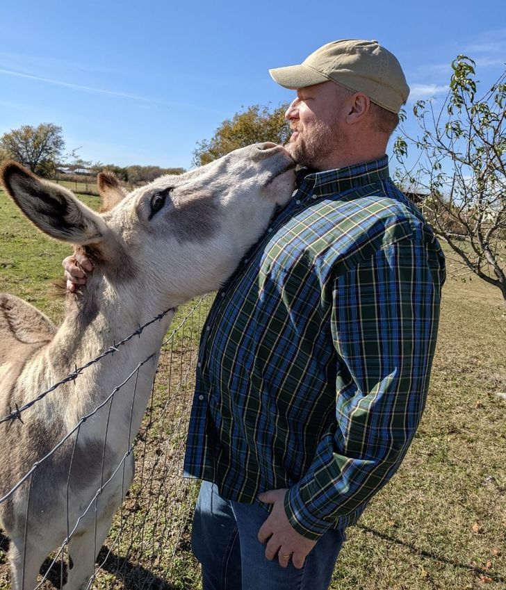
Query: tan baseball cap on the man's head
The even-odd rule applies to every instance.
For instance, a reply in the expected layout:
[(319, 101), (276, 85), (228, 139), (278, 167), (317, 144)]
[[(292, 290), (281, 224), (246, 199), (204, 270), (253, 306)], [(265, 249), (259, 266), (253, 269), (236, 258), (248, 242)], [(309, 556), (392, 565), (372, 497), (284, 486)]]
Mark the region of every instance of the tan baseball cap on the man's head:
[(316, 49), (300, 65), (269, 70), (281, 86), (295, 90), (332, 80), (398, 113), (409, 86), (397, 58), (377, 41), (342, 39)]

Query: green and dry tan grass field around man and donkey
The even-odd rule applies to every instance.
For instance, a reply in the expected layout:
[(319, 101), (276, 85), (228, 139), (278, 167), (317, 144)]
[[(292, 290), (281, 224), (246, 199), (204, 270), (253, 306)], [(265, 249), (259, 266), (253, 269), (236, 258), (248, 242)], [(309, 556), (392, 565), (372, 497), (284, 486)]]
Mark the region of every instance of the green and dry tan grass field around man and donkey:
[[(96, 197), (83, 200), (97, 205)], [(48, 293), (52, 281), (61, 276), (60, 263), (69, 250), (44, 238), (0, 192), (0, 291), (24, 297), (58, 320), (63, 304)], [(195, 347), (195, 335), (183, 335), (178, 349), (183, 348), (181, 338), (193, 338), (190, 348)], [(181, 372), (186, 353), (178, 362)], [(168, 368), (162, 367), (162, 372), (166, 371)], [(163, 396), (163, 386), (158, 395)], [(190, 387), (184, 395), (191, 395)], [(161, 404), (162, 398), (156, 403)], [(183, 445), (186, 414), (177, 404), (172, 411), (181, 421), (179, 442)], [(163, 428), (158, 434), (163, 436)], [(147, 464), (155, 462), (156, 444), (146, 447)], [(370, 502), (359, 524), (348, 531), (331, 588), (504, 589), (505, 454), (506, 306), (498, 291), (482, 281), (464, 283), (450, 278), (443, 290), (430, 395), (418, 434), (393, 480)], [(175, 454), (169, 464), (171, 477), (176, 479), (179, 456)], [(163, 503), (164, 493), (170, 491), (163, 487), (163, 478), (158, 479), (153, 498)], [(186, 505), (179, 506), (181, 514), (190, 511), (193, 495), (190, 492), (182, 500)], [(133, 527), (142, 518), (149, 520), (144, 511), (154, 500), (149, 502), (138, 508), (140, 516)], [(127, 502), (124, 511), (130, 509)], [(142, 562), (142, 570), (151, 570), (157, 580), (152, 588), (199, 587), (197, 564), (188, 551), (188, 531), (181, 522), (184, 519), (177, 520), (183, 530), (170, 566), (159, 563), (155, 543), (152, 565), (149, 559)], [(171, 527), (170, 521), (163, 523), (165, 538), (170, 538)], [(119, 544), (117, 559), (122, 550)], [(131, 561), (134, 558), (136, 555)], [(161, 577), (168, 584), (164, 586)], [(8, 587), (6, 579), (5, 557), (0, 552), (1, 590)], [(142, 587), (131, 579), (113, 580), (112, 574), (99, 577), (97, 584), (103, 588)]]

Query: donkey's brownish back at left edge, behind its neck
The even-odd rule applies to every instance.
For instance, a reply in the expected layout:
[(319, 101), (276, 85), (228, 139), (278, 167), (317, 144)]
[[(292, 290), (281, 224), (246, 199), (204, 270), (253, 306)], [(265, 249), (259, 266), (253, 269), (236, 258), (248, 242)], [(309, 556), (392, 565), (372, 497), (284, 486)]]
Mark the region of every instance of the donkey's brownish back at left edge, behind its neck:
[(0, 293), (0, 362), (23, 345), (43, 345), (56, 334), (53, 322), (15, 295)]

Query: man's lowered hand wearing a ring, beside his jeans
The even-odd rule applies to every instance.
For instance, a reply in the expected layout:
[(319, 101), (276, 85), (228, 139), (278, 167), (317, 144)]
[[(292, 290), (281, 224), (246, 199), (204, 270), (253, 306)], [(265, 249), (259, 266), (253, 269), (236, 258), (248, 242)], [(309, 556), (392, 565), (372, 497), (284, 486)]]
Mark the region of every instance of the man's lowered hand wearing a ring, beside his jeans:
[(286, 568), (291, 557), (293, 565), (300, 569), (304, 565), (307, 554), (316, 545), (316, 541), (306, 539), (288, 521), (284, 509), (286, 491), (286, 489), (270, 490), (259, 495), (261, 502), (272, 504), (272, 511), (266, 522), (261, 525), (258, 539), (261, 543), (267, 543), (267, 559), (273, 559), (277, 554), (279, 565)]

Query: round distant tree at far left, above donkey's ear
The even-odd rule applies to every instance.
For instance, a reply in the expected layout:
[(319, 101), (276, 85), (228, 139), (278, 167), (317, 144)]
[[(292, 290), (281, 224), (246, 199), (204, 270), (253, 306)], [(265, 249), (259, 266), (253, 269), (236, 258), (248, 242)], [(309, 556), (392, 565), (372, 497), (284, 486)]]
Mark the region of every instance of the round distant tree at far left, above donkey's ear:
[(53, 123), (41, 123), (36, 127), (23, 125), (3, 133), (0, 147), (32, 172), (47, 175), (54, 173), (65, 140), (61, 127)]

